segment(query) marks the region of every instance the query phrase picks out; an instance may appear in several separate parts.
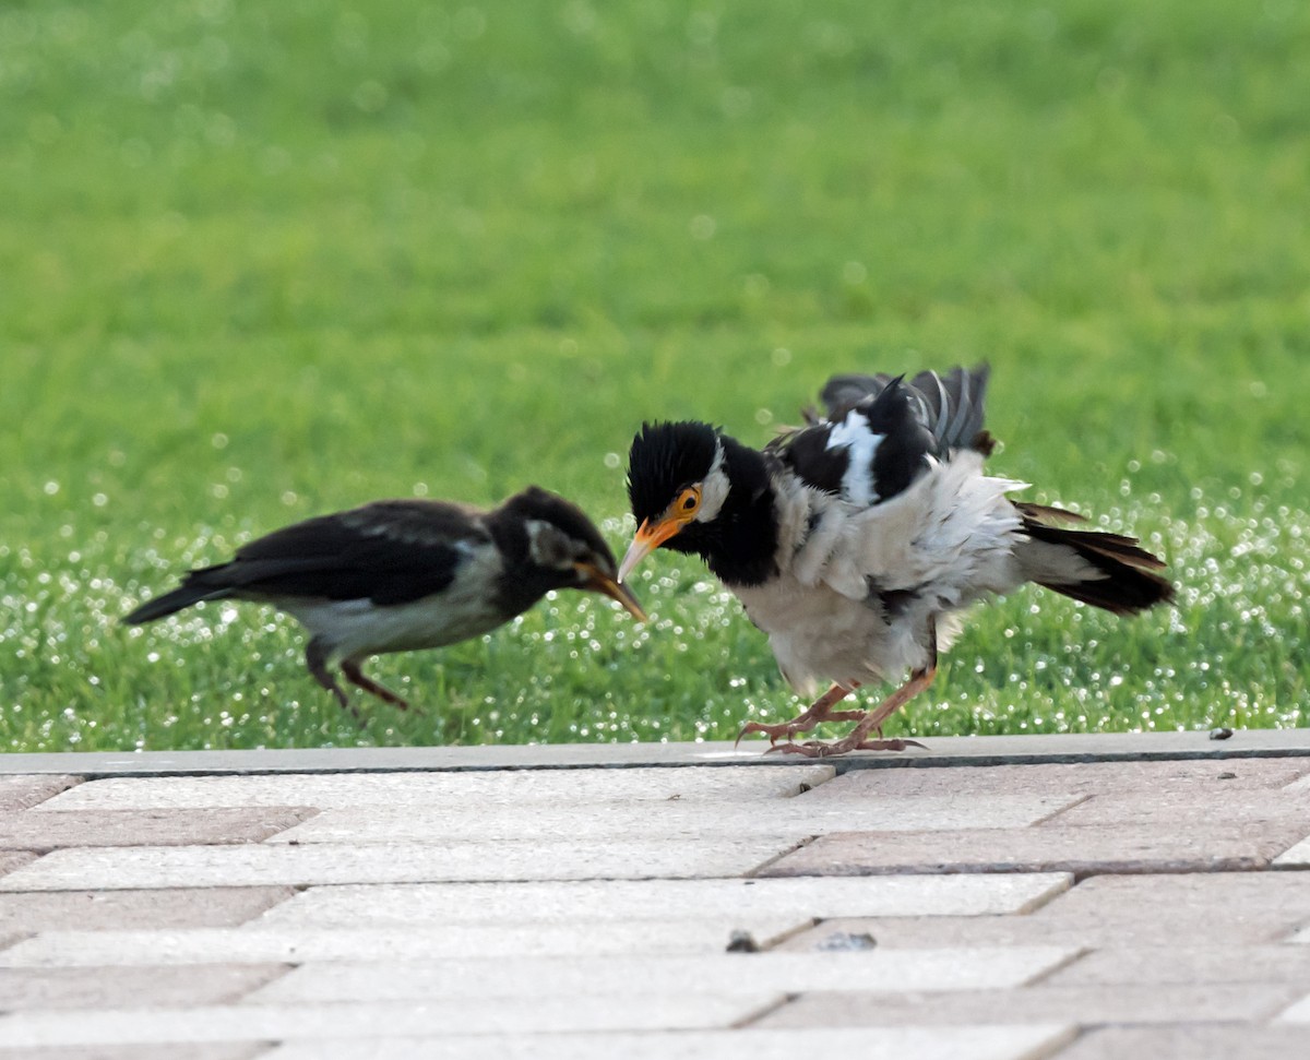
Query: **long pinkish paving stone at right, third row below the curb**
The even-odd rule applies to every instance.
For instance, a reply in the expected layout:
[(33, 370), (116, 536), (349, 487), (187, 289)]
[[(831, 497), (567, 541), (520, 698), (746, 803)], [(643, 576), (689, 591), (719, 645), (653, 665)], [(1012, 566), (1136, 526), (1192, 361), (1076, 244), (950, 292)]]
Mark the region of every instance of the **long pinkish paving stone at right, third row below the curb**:
[(1305, 825), (1192, 823), (962, 832), (837, 832), (760, 870), (760, 875), (887, 873), (1216, 873), (1264, 869)]

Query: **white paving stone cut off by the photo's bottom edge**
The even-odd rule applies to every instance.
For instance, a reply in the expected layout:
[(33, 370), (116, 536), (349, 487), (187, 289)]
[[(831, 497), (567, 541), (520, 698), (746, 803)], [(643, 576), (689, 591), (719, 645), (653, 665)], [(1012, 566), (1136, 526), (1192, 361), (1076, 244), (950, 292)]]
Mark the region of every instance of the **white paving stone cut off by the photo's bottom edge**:
[[(1041, 1060), (1074, 1036), (1064, 1026), (806, 1027), (756, 1031), (489, 1035), (486, 1038), (383, 1038), (284, 1044), (267, 1060)], [(1285, 1059), (1284, 1059), (1285, 1060)]]

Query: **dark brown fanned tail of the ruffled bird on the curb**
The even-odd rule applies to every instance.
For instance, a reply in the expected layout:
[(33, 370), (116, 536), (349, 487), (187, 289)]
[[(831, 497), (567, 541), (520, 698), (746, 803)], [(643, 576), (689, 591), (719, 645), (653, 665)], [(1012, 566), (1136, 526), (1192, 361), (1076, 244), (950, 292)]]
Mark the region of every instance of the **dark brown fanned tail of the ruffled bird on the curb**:
[(1028, 536), (1028, 544), (1018, 550), (1028, 580), (1115, 615), (1136, 615), (1174, 599), (1174, 586), (1153, 573), (1165, 569), (1163, 561), (1141, 548), (1136, 537), (1052, 527), (1040, 519), (1073, 514), (1015, 507)]

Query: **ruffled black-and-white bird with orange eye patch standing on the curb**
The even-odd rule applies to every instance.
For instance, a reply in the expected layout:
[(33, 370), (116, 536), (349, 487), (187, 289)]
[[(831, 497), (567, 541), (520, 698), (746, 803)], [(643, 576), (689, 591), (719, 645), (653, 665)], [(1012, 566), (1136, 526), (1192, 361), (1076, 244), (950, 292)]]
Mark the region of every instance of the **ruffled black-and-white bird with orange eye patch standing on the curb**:
[[(1024, 483), (984, 474), (985, 366), (913, 380), (844, 375), (821, 393), (827, 415), (762, 452), (707, 423), (645, 423), (627, 491), (638, 531), (622, 580), (659, 546), (694, 553), (769, 635), (800, 715), (749, 722), (739, 735), (789, 740), (808, 756), (899, 751), (883, 722), (927, 688), (959, 613), (1036, 582), (1131, 615), (1172, 597), (1163, 563), (1136, 539), (1077, 528), (1082, 516), (1011, 501)], [(872, 710), (833, 710), (869, 681), (901, 680)], [(833, 743), (791, 743), (819, 722), (854, 721)], [(879, 739), (870, 739), (870, 735)]]

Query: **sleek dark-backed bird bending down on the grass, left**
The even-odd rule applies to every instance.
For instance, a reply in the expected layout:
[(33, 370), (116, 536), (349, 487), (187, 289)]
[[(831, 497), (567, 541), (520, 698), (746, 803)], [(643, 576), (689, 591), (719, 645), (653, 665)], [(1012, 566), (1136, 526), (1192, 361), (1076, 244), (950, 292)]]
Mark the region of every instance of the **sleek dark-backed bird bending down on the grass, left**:
[(638, 621), (614, 556), (575, 504), (529, 486), (482, 511), (448, 501), (377, 501), (275, 531), (227, 562), (190, 571), (181, 587), (123, 621), (138, 625), (200, 600), (255, 600), (309, 633), (313, 679), (350, 708), (331, 668), (365, 692), (407, 708), (364, 676), (371, 655), (440, 647), (521, 615), (550, 590), (603, 592)]

